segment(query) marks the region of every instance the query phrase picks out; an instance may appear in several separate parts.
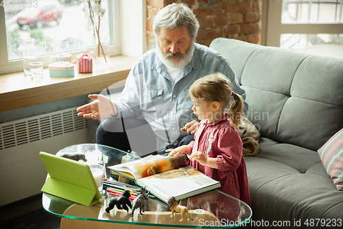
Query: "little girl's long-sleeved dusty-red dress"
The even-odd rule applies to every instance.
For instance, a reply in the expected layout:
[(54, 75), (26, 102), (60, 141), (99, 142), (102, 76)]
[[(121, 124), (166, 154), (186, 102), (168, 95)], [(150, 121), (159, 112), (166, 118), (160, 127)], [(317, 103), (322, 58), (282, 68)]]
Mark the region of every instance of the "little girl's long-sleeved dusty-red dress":
[(239, 133), (228, 121), (230, 116), (224, 113), (219, 120), (199, 123), (198, 131), (194, 134), (194, 141), (189, 143), (191, 151), (202, 151), (206, 157), (216, 158), (218, 168), (202, 166), (196, 160), (189, 160), (189, 165), (198, 171), (217, 180), (221, 190), (232, 195), (250, 206), (250, 193), (246, 162), (244, 161), (243, 144)]

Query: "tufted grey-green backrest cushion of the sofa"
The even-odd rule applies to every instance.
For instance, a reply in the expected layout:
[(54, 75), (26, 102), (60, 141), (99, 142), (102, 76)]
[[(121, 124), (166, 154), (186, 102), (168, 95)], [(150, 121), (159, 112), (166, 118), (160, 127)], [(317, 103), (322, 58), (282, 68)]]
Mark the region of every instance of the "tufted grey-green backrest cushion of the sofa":
[[(317, 151), (343, 128), (343, 60), (218, 38), (261, 135)], [(225, 48), (223, 48), (225, 47)]]

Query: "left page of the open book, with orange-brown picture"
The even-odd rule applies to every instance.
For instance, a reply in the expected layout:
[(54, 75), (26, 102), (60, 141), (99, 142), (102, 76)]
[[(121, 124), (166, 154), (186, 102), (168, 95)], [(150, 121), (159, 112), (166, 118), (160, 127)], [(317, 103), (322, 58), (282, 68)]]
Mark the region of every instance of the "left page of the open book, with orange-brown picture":
[(113, 171), (130, 173), (135, 179), (140, 179), (142, 177), (170, 171), (174, 168), (187, 166), (187, 162), (188, 158), (185, 154), (174, 157), (154, 155), (148, 157), (146, 160), (145, 158), (142, 158), (142, 160), (117, 164), (108, 168)]

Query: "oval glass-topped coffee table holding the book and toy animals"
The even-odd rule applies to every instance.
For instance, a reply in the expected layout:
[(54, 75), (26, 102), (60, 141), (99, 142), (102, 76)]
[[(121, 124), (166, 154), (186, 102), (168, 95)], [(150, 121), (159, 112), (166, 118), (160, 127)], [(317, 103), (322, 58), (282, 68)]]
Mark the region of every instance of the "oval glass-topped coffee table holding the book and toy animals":
[[(85, 153), (87, 162), (93, 160), (105, 163), (105, 167), (121, 163), (122, 157), (130, 155), (130, 160), (141, 157), (118, 149), (99, 144), (78, 144), (60, 150), (61, 153)], [(93, 162), (92, 162), (93, 161)], [(87, 163), (86, 162), (86, 163)], [(106, 168), (106, 174), (110, 171)], [(219, 190), (211, 190), (200, 195), (180, 200), (179, 204), (187, 206), (191, 219), (180, 221), (180, 213), (171, 217), (167, 204), (159, 199), (150, 198), (143, 215), (135, 210), (131, 217), (126, 210), (117, 207), (106, 212), (112, 195), (104, 191), (102, 199), (93, 206), (83, 206), (73, 201), (43, 193), (43, 208), (51, 215), (61, 217), (61, 229), (65, 228), (235, 228), (247, 223), (251, 216), (251, 208), (243, 201), (231, 197)]]

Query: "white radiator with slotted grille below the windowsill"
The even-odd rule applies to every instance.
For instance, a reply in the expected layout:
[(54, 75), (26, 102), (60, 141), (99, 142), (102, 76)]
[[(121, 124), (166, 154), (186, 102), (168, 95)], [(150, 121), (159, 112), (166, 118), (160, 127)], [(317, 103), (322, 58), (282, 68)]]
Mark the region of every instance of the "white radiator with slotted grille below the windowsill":
[(86, 143), (87, 120), (76, 107), (0, 124), (0, 206), (36, 195), (47, 171), (40, 151), (56, 154)]

